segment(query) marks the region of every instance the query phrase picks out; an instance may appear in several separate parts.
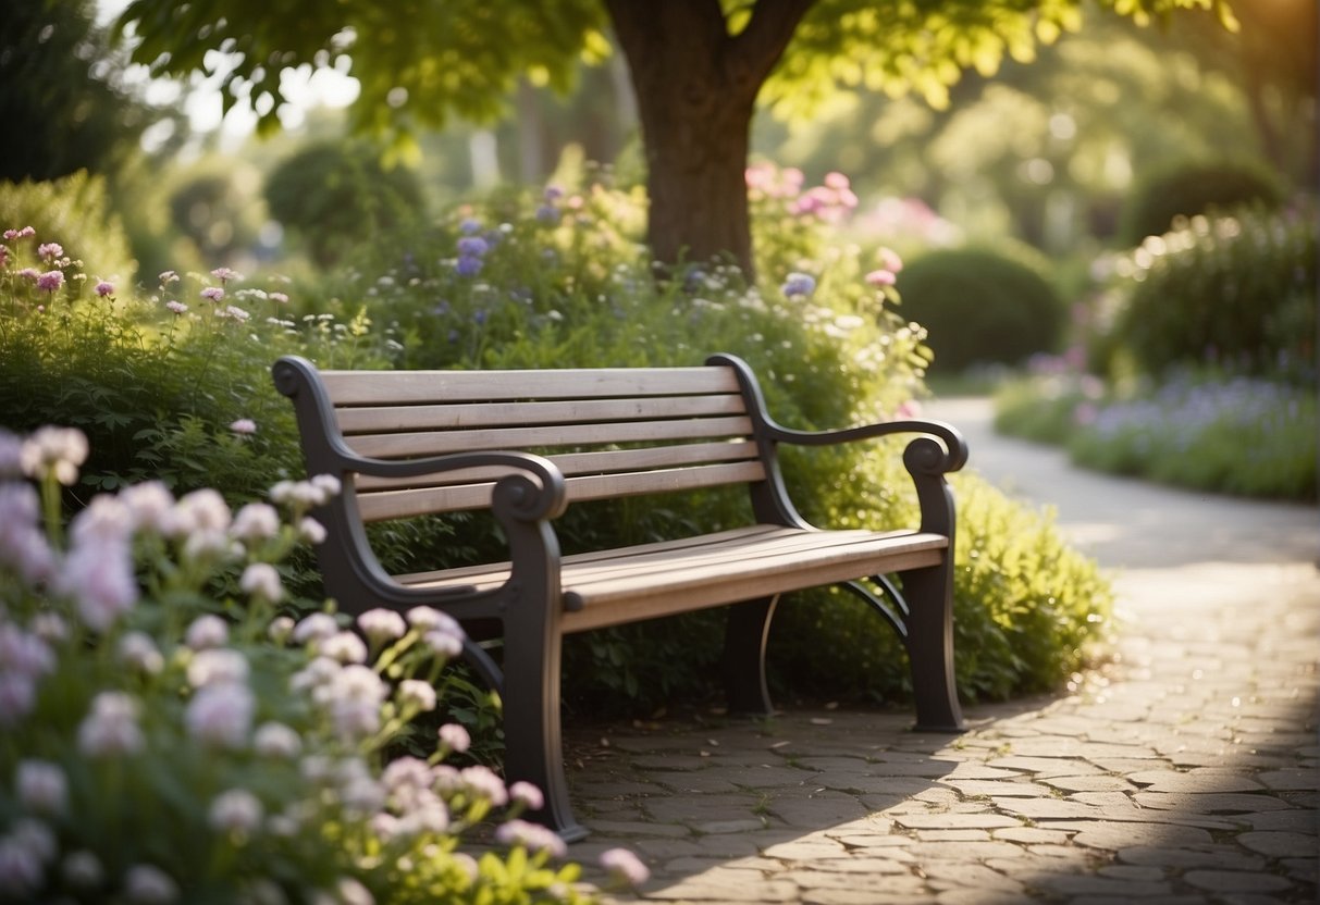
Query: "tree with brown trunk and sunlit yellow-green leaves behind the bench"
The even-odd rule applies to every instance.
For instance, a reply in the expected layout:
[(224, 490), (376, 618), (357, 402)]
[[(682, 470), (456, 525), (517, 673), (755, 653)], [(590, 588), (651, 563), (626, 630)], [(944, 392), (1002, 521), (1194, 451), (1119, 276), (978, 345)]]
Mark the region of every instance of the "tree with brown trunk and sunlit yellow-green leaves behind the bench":
[[(1180, 8), (1234, 24), (1228, 0), (1101, 0), (1137, 20)], [(1082, 0), (132, 0), (117, 30), (157, 75), (219, 77), (226, 104), (279, 124), (281, 74), (337, 67), (362, 83), (358, 129), (411, 146), (453, 115), (490, 120), (520, 78), (568, 88), (628, 61), (663, 260), (731, 253), (750, 268), (742, 173), (758, 103), (801, 113), (838, 87), (942, 103), (964, 70), (993, 73), (1081, 25)], [(219, 53), (216, 53), (219, 51)]]

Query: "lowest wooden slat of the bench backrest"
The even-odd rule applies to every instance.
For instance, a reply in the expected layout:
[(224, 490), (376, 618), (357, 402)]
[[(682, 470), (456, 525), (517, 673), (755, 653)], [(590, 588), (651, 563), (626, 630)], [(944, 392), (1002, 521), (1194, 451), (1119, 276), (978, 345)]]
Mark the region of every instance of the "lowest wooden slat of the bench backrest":
[[(660, 468), (616, 475), (586, 475), (565, 480), (570, 503), (619, 496), (693, 491), (722, 484), (762, 480), (766, 470), (758, 460), (686, 468)], [(480, 509), (491, 504), (494, 483), (461, 484), (404, 491), (376, 491), (358, 499), (363, 521), (408, 518), (433, 512)]]

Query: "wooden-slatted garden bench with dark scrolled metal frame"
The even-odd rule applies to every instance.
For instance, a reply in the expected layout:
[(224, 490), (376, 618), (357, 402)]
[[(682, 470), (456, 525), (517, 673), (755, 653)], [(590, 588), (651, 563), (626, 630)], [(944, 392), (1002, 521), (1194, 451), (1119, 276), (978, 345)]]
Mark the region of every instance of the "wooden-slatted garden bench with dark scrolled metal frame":
[[(949, 425), (894, 421), (799, 431), (766, 413), (742, 360), (705, 367), (560, 371), (318, 371), (273, 368), (294, 405), (312, 475), (343, 492), (322, 507), (326, 591), (346, 612), (432, 606), (474, 637), (465, 656), (503, 699), (506, 778), (545, 793), (535, 817), (582, 838), (560, 739), (560, 649), (570, 632), (729, 606), (723, 671), (730, 708), (770, 712), (764, 654), (779, 596), (841, 584), (894, 625), (909, 656), (917, 727), (958, 731), (953, 681), (954, 505), (945, 472), (966, 446)], [(903, 462), (921, 524), (820, 530), (788, 499), (780, 443), (822, 446), (917, 434)], [(561, 555), (554, 518), (569, 503), (743, 484), (755, 524), (682, 540)], [(367, 522), (488, 508), (508, 561), (388, 575)], [(898, 575), (902, 590), (891, 580)], [(494, 635), (490, 628), (494, 625)], [(828, 652), (822, 652), (828, 653)]]

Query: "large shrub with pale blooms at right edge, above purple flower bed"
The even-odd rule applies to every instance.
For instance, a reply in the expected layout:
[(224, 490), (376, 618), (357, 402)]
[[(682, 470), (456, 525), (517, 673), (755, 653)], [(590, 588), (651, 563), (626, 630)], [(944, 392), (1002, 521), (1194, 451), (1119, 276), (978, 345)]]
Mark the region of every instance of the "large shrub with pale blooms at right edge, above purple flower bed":
[(1195, 216), (1119, 261), (1111, 344), (1150, 375), (1179, 364), (1313, 375), (1313, 210)]

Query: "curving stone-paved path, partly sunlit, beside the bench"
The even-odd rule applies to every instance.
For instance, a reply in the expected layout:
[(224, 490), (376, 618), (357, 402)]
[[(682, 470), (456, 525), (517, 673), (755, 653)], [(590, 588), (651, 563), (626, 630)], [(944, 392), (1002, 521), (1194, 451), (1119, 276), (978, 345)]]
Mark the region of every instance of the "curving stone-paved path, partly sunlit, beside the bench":
[(1320, 901), (1320, 516), (1078, 472), (983, 404), (935, 417), (1114, 570), (1117, 662), (962, 736), (838, 710), (570, 727), (572, 856), (638, 852), (622, 901)]

